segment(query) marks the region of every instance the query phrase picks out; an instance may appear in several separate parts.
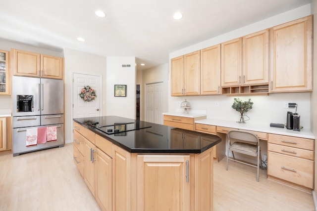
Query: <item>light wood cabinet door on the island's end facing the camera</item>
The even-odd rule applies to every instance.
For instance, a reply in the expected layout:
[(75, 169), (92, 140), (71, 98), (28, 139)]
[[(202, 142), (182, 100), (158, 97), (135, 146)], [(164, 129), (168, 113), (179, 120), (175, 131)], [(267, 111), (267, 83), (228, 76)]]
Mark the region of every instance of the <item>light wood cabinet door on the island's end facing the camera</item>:
[(190, 211), (190, 164), (190, 155), (138, 155), (137, 210)]

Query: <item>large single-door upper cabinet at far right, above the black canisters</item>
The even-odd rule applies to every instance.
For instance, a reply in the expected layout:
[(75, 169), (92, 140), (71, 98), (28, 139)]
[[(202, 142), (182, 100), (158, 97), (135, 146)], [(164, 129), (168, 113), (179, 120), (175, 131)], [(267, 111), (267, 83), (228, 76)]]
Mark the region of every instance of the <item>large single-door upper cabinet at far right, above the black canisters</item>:
[(312, 18), (270, 29), (270, 92), (312, 91)]

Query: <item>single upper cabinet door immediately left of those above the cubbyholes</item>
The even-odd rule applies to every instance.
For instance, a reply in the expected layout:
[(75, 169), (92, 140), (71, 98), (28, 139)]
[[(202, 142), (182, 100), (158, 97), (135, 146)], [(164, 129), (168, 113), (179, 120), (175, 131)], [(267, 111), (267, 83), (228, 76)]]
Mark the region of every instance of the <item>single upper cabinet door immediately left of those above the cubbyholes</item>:
[(220, 44), (200, 51), (200, 93), (220, 94)]

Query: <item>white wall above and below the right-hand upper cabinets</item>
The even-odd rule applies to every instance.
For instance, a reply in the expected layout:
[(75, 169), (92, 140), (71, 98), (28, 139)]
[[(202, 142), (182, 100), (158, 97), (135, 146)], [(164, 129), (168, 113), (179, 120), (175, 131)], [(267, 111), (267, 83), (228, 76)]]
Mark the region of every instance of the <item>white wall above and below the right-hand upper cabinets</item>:
[[(193, 52), (195, 50), (203, 49), (205, 47), (212, 46), (221, 42), (226, 42), (244, 35), (248, 35), (263, 29), (270, 28), (288, 21), (295, 20), (311, 14), (310, 4), (298, 7), (288, 12), (270, 17), (263, 21), (251, 24), (249, 26), (234, 30), (224, 35), (212, 38), (210, 40), (188, 46), (186, 48), (171, 52), (169, 58), (174, 58), (186, 53)], [(169, 92), (170, 93), (170, 80), (169, 80)], [(170, 94), (169, 94), (170, 95)], [(237, 97), (237, 96), (235, 96)], [(192, 97), (171, 97), (169, 96), (169, 112), (175, 112), (179, 108), (180, 102), (187, 99), (191, 103), (193, 109), (207, 110), (207, 118), (223, 119), (238, 121), (239, 113), (231, 108), (233, 103), (233, 96), (225, 95), (213, 95), (213, 96), (192, 96)], [(287, 111), (295, 112), (294, 109), (284, 108), (284, 102), (295, 102), (298, 104), (297, 112), (301, 115), (301, 125), (305, 128), (310, 128), (311, 119), (311, 104), (310, 93), (275, 93), (266, 95), (254, 95), (254, 96), (241, 96), (243, 100), (251, 100), (254, 102), (254, 108), (251, 109), (247, 115), (250, 117), (249, 123), (286, 123)], [(219, 105), (215, 106), (215, 102)]]

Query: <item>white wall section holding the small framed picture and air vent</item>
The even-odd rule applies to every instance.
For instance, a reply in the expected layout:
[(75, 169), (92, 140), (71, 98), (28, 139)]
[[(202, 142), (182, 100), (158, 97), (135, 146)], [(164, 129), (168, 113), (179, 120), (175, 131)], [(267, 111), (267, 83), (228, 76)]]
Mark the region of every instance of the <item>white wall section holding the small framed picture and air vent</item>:
[[(106, 116), (136, 118), (135, 57), (106, 58)], [(122, 67), (130, 64), (131, 67)], [(126, 97), (114, 97), (114, 84), (127, 85)]]

